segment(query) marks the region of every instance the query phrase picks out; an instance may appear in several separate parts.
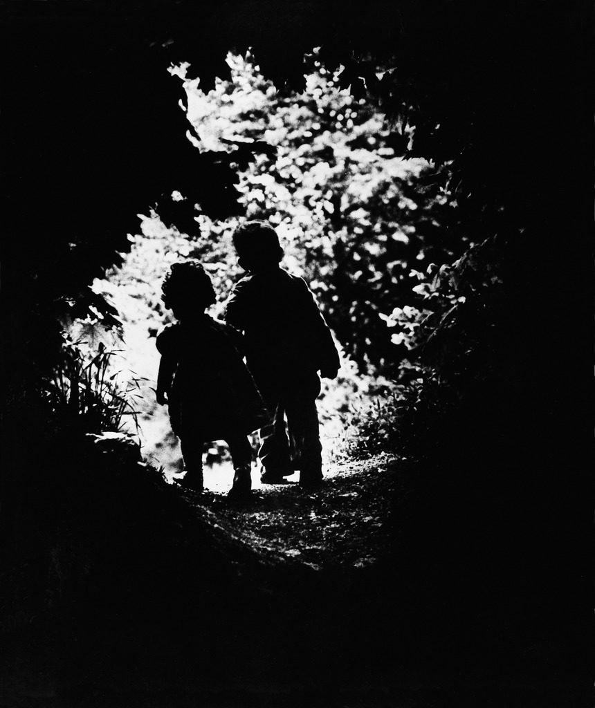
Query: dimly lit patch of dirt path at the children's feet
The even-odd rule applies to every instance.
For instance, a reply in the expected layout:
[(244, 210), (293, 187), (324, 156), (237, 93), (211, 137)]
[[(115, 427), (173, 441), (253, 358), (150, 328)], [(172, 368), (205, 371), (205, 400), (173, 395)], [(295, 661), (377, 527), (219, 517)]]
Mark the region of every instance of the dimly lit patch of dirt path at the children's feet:
[(213, 523), (269, 561), (315, 570), (364, 568), (386, 549), (383, 523), (396, 484), (395, 462), (388, 455), (347, 462), (316, 491), (295, 483), (263, 485), (244, 505), (212, 491), (181, 494), (189, 505), (212, 515)]

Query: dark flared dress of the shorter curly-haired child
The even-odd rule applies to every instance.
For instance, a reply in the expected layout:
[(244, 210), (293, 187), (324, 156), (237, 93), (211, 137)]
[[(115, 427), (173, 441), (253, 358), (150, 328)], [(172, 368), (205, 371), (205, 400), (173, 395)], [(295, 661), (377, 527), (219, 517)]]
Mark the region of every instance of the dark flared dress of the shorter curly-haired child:
[(159, 334), (159, 353), (176, 365), (169, 416), (180, 438), (225, 440), (262, 425), (266, 411), (241, 348), (236, 331), (202, 313)]

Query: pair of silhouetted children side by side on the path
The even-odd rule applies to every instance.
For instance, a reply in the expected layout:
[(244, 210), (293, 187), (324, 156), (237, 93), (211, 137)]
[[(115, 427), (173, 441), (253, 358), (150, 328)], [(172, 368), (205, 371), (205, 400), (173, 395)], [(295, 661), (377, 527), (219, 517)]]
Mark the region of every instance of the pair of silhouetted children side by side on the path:
[(299, 469), (301, 486), (317, 486), (318, 372), (336, 377), (339, 354), (305, 281), (280, 268), (283, 249), (275, 230), (266, 222), (247, 222), (233, 242), (246, 275), (227, 300), (226, 323), (205, 314), (215, 292), (198, 261), (172, 265), (162, 286), (164, 305), (178, 321), (157, 337), (157, 402), (169, 404), (180, 438), (182, 484), (203, 489), (203, 445), (225, 440), (234, 466), (229, 495), (247, 496), (247, 436), (260, 428), (262, 481), (276, 484)]

